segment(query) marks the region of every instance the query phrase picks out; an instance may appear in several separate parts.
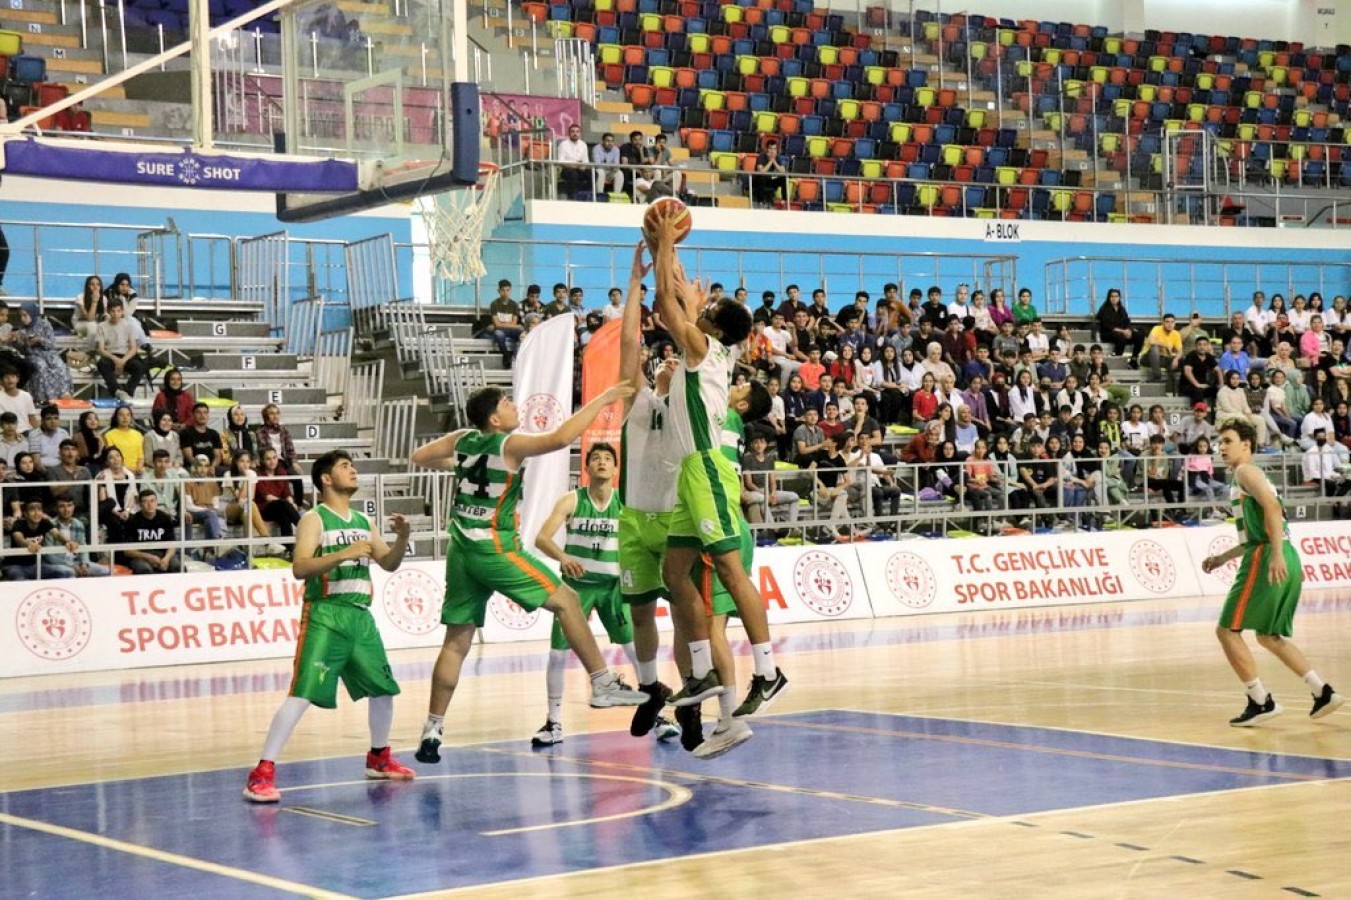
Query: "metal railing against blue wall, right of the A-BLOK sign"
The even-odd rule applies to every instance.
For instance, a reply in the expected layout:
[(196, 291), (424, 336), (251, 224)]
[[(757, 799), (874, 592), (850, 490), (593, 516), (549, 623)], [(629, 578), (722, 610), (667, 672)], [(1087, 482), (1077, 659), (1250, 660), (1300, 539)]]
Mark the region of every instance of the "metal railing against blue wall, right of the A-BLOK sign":
[(1062, 257), (1046, 264), (1046, 311), (1092, 318), (1109, 288), (1142, 322), (1165, 312), (1227, 319), (1252, 303), (1252, 292), (1288, 299), (1313, 291), (1328, 303), (1351, 295), (1351, 261), (1167, 259), (1156, 257)]

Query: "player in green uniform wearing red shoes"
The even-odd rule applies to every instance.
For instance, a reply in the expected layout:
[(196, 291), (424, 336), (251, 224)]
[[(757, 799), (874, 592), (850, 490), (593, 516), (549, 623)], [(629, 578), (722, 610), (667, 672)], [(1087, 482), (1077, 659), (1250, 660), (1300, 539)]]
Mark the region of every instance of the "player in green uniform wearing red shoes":
[(357, 493), (357, 466), (342, 450), (313, 462), (309, 473), (319, 491), (317, 507), (296, 527), (292, 573), (305, 582), (300, 639), (290, 680), (290, 696), (272, 719), (262, 758), (249, 773), (245, 799), (277, 803), (274, 759), (311, 705), (332, 709), (338, 681), (353, 700), (370, 697), (370, 753), (366, 777), (409, 781), (413, 770), (389, 753), (389, 726), (394, 719), (399, 684), (389, 672), (385, 645), (370, 615), (370, 564), (393, 572), (408, 550), (408, 523), (392, 516), (394, 545), (389, 546), (370, 522), (351, 508)]

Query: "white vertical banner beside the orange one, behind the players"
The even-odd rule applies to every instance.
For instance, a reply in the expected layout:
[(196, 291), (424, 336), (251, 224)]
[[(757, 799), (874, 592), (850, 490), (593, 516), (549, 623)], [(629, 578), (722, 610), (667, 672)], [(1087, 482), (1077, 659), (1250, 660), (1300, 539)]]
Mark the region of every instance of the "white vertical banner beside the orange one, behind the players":
[[(577, 353), (574, 326), (571, 315), (554, 316), (520, 342), (512, 392), (524, 434), (553, 431), (571, 414), (573, 358)], [(567, 449), (528, 459), (524, 474), (520, 538), (528, 550), (535, 546), (535, 534), (558, 496), (567, 491)]]

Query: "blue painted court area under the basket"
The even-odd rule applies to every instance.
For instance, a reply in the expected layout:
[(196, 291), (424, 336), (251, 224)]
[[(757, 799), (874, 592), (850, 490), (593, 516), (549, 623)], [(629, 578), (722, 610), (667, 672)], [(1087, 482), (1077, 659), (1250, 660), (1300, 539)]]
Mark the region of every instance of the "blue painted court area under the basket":
[(405, 784), (365, 781), (355, 755), (282, 764), (280, 807), (240, 800), (246, 765), (5, 793), (0, 896), (377, 897), (1351, 776), (1342, 761), (901, 715), (753, 724), (748, 745), (704, 764), (623, 732), (543, 753), (447, 747)]

